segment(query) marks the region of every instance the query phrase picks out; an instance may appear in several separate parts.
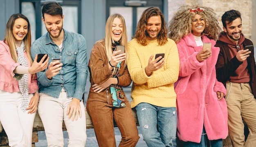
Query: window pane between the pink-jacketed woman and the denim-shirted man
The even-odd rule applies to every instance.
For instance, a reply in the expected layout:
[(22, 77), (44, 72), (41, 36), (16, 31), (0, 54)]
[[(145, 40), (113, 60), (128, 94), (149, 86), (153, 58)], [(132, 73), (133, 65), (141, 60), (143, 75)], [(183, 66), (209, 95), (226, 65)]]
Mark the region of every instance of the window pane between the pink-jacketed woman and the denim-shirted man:
[(21, 13), (29, 19), (31, 30), (31, 42), (36, 40), (36, 12), (32, 2), (21, 3)]

